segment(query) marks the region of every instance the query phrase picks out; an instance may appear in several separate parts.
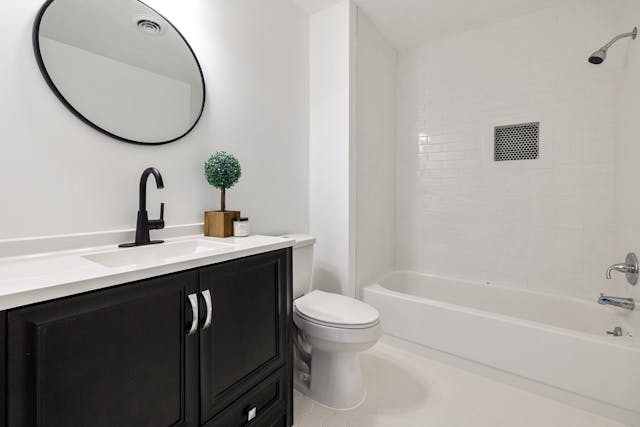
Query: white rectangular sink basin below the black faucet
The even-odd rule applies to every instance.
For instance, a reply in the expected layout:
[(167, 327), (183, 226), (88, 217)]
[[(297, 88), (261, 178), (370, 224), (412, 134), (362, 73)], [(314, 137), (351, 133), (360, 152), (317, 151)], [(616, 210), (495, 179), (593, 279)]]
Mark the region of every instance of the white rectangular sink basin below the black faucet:
[(84, 255), (83, 258), (104, 267), (127, 267), (176, 262), (180, 261), (181, 258), (189, 259), (194, 256), (229, 252), (233, 248), (234, 245), (230, 243), (194, 239), (134, 248), (121, 248), (109, 252)]

